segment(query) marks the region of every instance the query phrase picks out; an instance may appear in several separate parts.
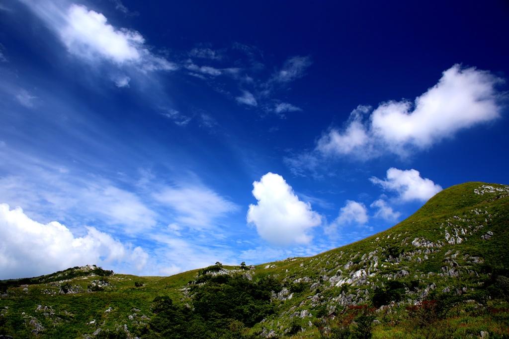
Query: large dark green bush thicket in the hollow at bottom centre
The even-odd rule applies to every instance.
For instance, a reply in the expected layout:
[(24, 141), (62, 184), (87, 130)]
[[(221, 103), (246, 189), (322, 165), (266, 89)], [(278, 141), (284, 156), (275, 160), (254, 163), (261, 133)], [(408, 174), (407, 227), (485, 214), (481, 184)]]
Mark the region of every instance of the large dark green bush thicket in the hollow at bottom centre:
[(191, 307), (176, 305), (167, 296), (156, 297), (155, 316), (139, 334), (143, 338), (248, 338), (245, 326), (274, 312), (271, 294), (281, 288), (271, 278), (252, 282), (241, 275), (206, 276), (204, 282), (191, 288)]

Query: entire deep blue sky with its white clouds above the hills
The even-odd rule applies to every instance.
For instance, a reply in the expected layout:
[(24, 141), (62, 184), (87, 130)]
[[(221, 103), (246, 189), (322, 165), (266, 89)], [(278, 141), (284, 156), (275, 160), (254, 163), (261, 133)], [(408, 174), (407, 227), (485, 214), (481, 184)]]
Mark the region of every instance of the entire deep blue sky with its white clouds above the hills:
[(1, 1), (0, 279), (314, 255), (507, 183), (508, 13)]

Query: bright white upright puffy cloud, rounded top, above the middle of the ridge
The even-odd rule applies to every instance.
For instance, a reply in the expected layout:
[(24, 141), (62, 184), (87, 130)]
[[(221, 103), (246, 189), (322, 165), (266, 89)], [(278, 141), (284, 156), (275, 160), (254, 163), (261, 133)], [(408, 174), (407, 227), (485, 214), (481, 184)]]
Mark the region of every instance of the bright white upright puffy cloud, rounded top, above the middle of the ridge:
[(322, 222), (320, 214), (309, 203), (300, 201), (278, 174), (269, 172), (254, 181), (252, 194), (258, 203), (249, 205), (247, 222), (273, 244), (308, 243), (312, 239), (309, 230)]

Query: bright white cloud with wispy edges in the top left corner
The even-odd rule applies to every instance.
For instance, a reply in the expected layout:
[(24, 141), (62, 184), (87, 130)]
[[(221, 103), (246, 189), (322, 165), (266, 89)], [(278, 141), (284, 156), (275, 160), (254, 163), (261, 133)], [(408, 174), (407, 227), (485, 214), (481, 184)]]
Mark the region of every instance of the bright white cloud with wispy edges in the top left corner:
[(108, 60), (144, 72), (176, 69), (175, 64), (150, 52), (141, 34), (112, 26), (102, 13), (66, 1), (21, 1), (60, 37), (69, 53), (82, 59)]

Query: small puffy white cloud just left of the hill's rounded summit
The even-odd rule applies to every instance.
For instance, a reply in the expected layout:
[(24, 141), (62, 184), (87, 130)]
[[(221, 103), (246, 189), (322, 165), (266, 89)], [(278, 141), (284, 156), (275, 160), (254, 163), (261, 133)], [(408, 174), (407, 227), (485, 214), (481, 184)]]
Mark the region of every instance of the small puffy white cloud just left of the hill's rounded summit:
[(387, 170), (385, 180), (377, 177), (371, 177), (370, 180), (384, 190), (397, 192), (402, 201), (426, 201), (442, 191), (440, 185), (428, 178), (422, 178), (419, 171), (414, 169), (400, 170), (391, 167)]

